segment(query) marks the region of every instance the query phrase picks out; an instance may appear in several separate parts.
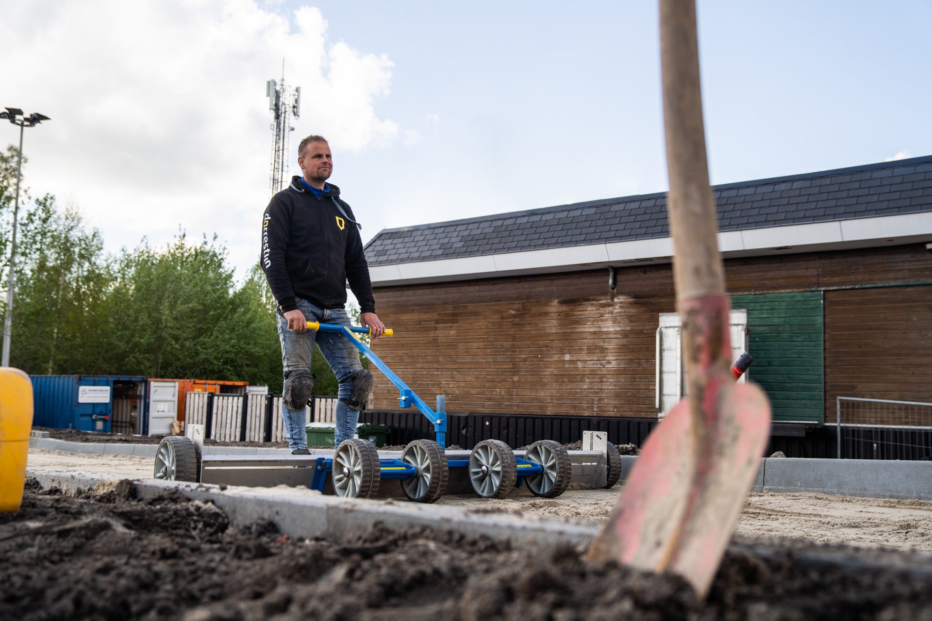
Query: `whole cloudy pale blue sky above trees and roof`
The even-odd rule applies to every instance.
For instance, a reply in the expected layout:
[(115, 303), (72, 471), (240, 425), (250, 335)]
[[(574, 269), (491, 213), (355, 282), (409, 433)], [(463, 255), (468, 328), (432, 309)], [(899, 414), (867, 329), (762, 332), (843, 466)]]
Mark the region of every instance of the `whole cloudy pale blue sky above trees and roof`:
[[(331, 181), (385, 228), (667, 188), (657, 7), (641, 0), (6, 0), (0, 105), (33, 195), (105, 248), (259, 252), (272, 115), (302, 91)], [(932, 155), (932, 3), (698, 2), (711, 182)], [(18, 128), (0, 124), (0, 145)]]

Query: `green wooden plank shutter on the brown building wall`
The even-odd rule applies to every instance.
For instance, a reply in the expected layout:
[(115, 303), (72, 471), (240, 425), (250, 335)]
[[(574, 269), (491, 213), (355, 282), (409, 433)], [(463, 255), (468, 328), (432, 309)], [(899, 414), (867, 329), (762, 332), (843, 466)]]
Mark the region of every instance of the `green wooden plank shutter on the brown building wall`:
[(822, 292), (733, 295), (732, 307), (747, 309), (749, 375), (774, 421), (823, 423)]

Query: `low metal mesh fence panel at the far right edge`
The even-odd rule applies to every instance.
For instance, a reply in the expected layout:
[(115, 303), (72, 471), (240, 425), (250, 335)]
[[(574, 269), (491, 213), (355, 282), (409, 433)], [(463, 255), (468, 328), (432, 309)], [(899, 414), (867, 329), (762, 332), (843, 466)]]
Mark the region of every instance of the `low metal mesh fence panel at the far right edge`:
[(839, 397), (839, 459), (923, 459), (932, 455), (932, 403)]

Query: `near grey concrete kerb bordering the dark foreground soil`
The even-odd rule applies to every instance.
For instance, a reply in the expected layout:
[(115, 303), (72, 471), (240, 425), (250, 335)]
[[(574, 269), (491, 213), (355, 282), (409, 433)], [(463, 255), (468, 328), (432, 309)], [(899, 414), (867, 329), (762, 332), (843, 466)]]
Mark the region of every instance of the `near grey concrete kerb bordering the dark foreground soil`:
[[(27, 469), (27, 475), (43, 487), (58, 486), (66, 493), (112, 489), (117, 479), (69, 472)], [(132, 479), (130, 479), (132, 480)], [(446, 529), (466, 535), (507, 539), (521, 547), (587, 544), (600, 524), (567, 522), (507, 513), (476, 513), (474, 508), (418, 505), (358, 498), (324, 496), (311, 491), (277, 488), (226, 487), (178, 481), (133, 480), (136, 495), (148, 498), (165, 490), (177, 490), (192, 500), (211, 502), (230, 523), (247, 525), (271, 520), (292, 538), (326, 538), (347, 541), (368, 533), (377, 523), (392, 529), (412, 526)]]

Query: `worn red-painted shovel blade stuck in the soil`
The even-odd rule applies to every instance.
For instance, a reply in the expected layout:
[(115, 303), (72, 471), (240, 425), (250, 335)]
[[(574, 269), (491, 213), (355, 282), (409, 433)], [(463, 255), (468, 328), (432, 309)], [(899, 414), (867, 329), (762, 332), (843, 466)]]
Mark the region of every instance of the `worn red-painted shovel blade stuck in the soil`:
[(771, 418), (756, 385), (722, 385), (716, 397), (719, 415), (698, 454), (688, 399), (657, 425), (589, 559), (674, 571), (705, 596), (760, 467)]

